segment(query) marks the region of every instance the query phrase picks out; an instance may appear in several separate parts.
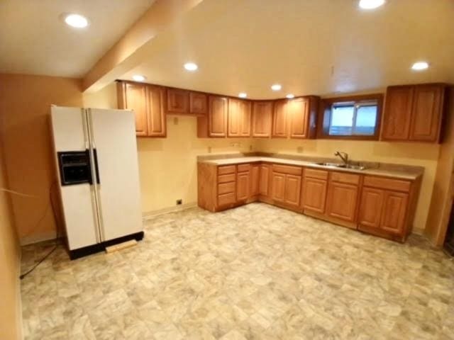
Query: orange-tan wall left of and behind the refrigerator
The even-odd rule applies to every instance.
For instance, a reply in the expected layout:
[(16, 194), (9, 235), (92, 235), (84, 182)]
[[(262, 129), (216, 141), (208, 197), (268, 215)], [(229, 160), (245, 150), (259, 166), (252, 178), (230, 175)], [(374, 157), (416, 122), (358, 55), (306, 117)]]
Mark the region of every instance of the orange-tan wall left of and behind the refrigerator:
[(0, 74), (0, 84), (1, 134), (9, 186), (39, 197), (12, 198), (18, 236), (21, 242), (53, 237), (55, 222), (47, 209), (49, 189), (56, 179), (50, 105), (82, 106), (81, 81)]

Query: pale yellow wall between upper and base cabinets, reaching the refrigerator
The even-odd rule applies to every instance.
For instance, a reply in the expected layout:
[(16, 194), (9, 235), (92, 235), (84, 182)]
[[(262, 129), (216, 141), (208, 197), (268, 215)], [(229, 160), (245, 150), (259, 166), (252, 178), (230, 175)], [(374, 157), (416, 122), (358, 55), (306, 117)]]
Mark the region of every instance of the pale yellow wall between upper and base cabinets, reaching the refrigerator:
[[(116, 108), (115, 84), (94, 94), (84, 94), (84, 106)], [(199, 139), (196, 137), (196, 119), (178, 117), (174, 124), (167, 118), (167, 138), (139, 138), (138, 157), (143, 212), (151, 212), (183, 203), (196, 202), (196, 156), (213, 153), (249, 151), (304, 154), (333, 157), (336, 150), (346, 151), (352, 159), (424, 166), (425, 173), (415, 217), (415, 231), (426, 226), (432, 196), (433, 181), (438, 161), (438, 145), (423, 143), (389, 143), (343, 140), (282, 140), (282, 139)], [(232, 147), (232, 143), (240, 146)], [(302, 153), (298, 152), (302, 148)]]

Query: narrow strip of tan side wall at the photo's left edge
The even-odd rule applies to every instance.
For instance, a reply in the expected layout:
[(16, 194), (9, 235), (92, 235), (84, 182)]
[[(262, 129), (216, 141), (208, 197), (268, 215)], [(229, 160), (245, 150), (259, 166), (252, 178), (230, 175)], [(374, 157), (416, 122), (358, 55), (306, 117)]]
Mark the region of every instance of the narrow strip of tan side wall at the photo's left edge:
[[(7, 188), (0, 138), (0, 188)], [(21, 334), (20, 249), (13, 227), (9, 194), (0, 191), (0, 339), (16, 340)]]

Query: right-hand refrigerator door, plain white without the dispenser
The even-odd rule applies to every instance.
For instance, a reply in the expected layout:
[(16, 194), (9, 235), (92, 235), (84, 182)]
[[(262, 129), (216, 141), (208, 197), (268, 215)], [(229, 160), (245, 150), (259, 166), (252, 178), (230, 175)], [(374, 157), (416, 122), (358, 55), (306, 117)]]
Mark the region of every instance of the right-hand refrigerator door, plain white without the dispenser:
[(135, 118), (132, 111), (87, 109), (96, 149), (98, 208), (104, 241), (141, 232)]

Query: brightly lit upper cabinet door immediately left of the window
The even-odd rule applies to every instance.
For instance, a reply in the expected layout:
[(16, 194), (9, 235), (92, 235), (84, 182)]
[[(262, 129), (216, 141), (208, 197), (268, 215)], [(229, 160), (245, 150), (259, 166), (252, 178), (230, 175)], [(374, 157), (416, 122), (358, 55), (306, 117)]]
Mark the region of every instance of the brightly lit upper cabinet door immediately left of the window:
[(309, 99), (292, 99), (287, 104), (287, 117), (290, 120), (291, 138), (308, 138), (309, 134)]

